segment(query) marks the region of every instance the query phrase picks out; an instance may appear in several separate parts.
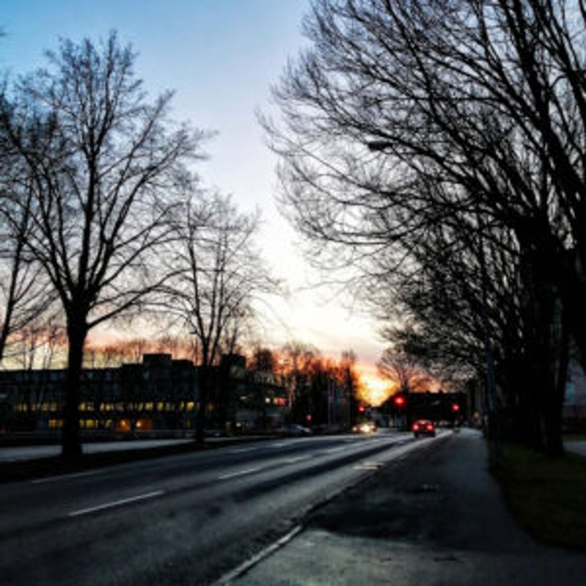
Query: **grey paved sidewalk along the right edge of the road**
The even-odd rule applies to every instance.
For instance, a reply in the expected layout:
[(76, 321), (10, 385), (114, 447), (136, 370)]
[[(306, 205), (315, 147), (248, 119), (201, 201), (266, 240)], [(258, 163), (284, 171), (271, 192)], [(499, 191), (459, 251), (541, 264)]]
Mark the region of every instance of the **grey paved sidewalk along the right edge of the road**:
[(408, 584), (578, 586), (586, 556), (519, 530), (471, 430), (382, 469), (322, 507), (241, 586)]

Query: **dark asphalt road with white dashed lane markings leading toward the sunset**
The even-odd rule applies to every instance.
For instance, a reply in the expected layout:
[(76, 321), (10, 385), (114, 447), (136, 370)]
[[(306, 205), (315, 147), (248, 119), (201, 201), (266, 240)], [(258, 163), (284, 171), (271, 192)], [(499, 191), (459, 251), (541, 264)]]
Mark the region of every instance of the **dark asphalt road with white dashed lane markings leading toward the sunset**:
[(0, 581), (210, 584), (428, 442), (291, 438), (0, 486)]

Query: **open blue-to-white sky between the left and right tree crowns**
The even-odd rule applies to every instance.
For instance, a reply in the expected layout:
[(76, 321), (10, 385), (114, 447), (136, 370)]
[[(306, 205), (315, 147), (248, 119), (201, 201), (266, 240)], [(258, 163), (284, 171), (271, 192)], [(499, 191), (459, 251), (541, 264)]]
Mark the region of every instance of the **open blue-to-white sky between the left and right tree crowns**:
[(373, 392), (383, 350), (376, 325), (358, 304), (326, 285), (305, 263), (302, 243), (277, 208), (277, 159), (255, 111), (274, 113), (270, 88), (307, 44), (301, 21), (309, 0), (2, 0), (0, 71), (11, 76), (46, 64), (60, 38), (105, 39), (116, 30), (138, 52), (136, 73), (149, 96), (174, 90), (172, 116), (217, 134), (197, 164), (203, 186), (231, 194), (242, 211), (260, 209), (258, 246), (289, 292), (260, 307), (260, 341), (299, 340), (339, 358), (353, 349)]

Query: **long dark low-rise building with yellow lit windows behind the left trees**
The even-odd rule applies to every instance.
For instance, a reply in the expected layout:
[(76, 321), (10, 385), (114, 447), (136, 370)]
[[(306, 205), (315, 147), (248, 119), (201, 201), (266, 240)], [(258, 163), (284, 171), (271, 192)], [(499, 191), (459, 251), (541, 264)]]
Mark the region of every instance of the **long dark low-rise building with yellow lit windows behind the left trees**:
[[(199, 367), (168, 354), (145, 354), (142, 363), (86, 369), (81, 383), (80, 427), (86, 435), (195, 430)], [(66, 370), (0, 371), (0, 432), (45, 432), (63, 426)], [(210, 368), (206, 428), (222, 432), (281, 427), (289, 412), (282, 381), (246, 368), (239, 355)]]

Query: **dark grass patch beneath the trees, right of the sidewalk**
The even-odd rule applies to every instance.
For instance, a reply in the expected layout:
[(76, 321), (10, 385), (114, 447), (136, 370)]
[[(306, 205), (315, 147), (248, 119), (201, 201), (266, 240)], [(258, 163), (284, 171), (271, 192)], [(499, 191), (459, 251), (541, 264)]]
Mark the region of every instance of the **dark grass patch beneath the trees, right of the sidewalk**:
[(586, 550), (586, 458), (550, 459), (512, 443), (501, 456), (495, 476), (517, 522), (537, 541)]

